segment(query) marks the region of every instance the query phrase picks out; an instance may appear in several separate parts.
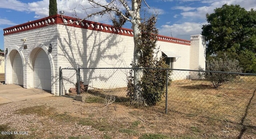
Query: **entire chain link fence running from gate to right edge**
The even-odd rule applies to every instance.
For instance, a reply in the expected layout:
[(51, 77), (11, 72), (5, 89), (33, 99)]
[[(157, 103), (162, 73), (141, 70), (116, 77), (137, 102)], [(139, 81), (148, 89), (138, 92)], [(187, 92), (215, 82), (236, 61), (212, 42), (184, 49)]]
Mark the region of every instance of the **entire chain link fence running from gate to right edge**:
[[(129, 104), (127, 84), (129, 68), (79, 68), (61, 69), (62, 95), (84, 96), (86, 103)], [(177, 69), (140, 69), (168, 71), (172, 81), (162, 88), (167, 92), (154, 107), (166, 113), (179, 112), (191, 116), (209, 117), (242, 125), (256, 125), (256, 74), (228, 73)], [(213, 76), (234, 76), (214, 88), (204, 74)], [(157, 77), (158, 72), (156, 72)], [(78, 76), (76, 76), (78, 75)], [(79, 80), (79, 85), (77, 81)], [(148, 79), (151, 80), (150, 78)], [(217, 80), (218, 81), (218, 80)], [(222, 80), (219, 80), (222, 81)], [(73, 88), (73, 89), (72, 89)], [(77, 89), (79, 88), (79, 89)], [(69, 91), (73, 90), (73, 92)], [(79, 91), (78, 91), (79, 90)]]

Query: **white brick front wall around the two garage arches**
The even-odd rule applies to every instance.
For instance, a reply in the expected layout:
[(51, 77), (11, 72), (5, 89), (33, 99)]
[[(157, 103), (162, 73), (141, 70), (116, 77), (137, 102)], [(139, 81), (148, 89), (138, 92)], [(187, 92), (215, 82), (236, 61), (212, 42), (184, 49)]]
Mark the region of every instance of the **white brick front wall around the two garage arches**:
[[(26, 38), (26, 41), (21, 39)], [(52, 43), (52, 53), (48, 52), (48, 46)], [(27, 45), (27, 49), (24, 49), (24, 45)], [(57, 60), (57, 27), (46, 26), (37, 29), (22, 31), (18, 33), (12, 33), (4, 35), (4, 50), (8, 49), (8, 54), (5, 59), (5, 80), (6, 84), (12, 84), (12, 60), (15, 53), (19, 53), (22, 58), (23, 65), (23, 79), (24, 88), (33, 88), (33, 65), (36, 53), (43, 49), (51, 64), (52, 70), (52, 94), (57, 94), (58, 83), (55, 82), (58, 79), (58, 65)]]

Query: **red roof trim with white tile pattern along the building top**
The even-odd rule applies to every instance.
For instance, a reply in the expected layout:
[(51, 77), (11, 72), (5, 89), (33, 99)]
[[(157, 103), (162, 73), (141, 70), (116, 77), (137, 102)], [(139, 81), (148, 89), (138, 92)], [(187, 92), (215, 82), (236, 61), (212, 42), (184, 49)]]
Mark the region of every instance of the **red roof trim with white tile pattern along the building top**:
[[(102, 32), (107, 32), (107, 33), (114, 33), (114, 34), (119, 34), (119, 35), (126, 35), (126, 36), (131, 36), (131, 37), (133, 36), (132, 29), (116, 28), (116, 27), (113, 27), (112, 25), (107, 25), (104, 23), (91, 22), (88, 20), (81, 20), (81, 19), (72, 18), (69, 16), (61, 16), (58, 14), (56, 14), (54, 16), (42, 18), (39, 20), (35, 20), (32, 22), (15, 25), (13, 27), (8, 27), (8, 28), (4, 29), (4, 35), (17, 33), (17, 32), (21, 32), (21, 31), (26, 31), (26, 30), (30, 30), (30, 29), (36, 29), (36, 28), (40, 28), (40, 27), (45, 27), (47, 25), (56, 25), (56, 24), (62, 24), (62, 25), (67, 25), (67, 26), (72, 26), (72, 27), (79, 27), (79, 28), (90, 29), (90, 30), (95, 30), (95, 31), (102, 31)], [(190, 41), (184, 40), (184, 39), (167, 37), (167, 36), (163, 36), (163, 35), (158, 35), (157, 38), (158, 38), (158, 41), (190, 45)]]

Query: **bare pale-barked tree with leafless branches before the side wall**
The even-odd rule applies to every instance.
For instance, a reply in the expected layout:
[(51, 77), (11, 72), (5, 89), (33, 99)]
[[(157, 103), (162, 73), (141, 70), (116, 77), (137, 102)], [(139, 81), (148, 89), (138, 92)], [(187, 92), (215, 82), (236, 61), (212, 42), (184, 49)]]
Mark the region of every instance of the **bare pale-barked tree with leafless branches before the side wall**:
[[(140, 57), (140, 49), (138, 49), (138, 45), (141, 43), (142, 40), (137, 39), (141, 38), (141, 17), (140, 17), (140, 8), (142, 4), (142, 0), (131, 0), (131, 7), (128, 5), (127, 0), (109, 0), (107, 3), (103, 2), (102, 0), (87, 0), (92, 7), (91, 8), (100, 8), (97, 12), (87, 14), (86, 18), (90, 18), (94, 15), (103, 15), (103, 14), (117, 14), (121, 16), (124, 20), (127, 20), (132, 23), (132, 29), (134, 33), (134, 101), (138, 103), (143, 103), (141, 97), (141, 89), (139, 87), (139, 82), (142, 78), (143, 72), (141, 66), (138, 63), (138, 58)], [(145, 4), (146, 1), (144, 0)], [(148, 6), (148, 4), (146, 4)], [(149, 7), (149, 6), (148, 6)], [(90, 8), (85, 8), (86, 10), (90, 10)], [(127, 16), (127, 13), (129, 16)]]

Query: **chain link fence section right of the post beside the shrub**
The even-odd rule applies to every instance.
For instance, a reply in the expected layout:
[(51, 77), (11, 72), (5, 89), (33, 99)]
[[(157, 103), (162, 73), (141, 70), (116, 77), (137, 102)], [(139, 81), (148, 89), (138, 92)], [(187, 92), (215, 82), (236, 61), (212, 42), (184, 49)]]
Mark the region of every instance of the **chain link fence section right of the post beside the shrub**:
[[(214, 88), (212, 82), (202, 76), (206, 72), (212, 76), (232, 75), (235, 78)], [(176, 74), (180, 78), (187, 76), (179, 70)], [(173, 80), (168, 86), (168, 110), (235, 123), (243, 121), (242, 124), (255, 126), (255, 92), (256, 74), (191, 71), (189, 78)]]

